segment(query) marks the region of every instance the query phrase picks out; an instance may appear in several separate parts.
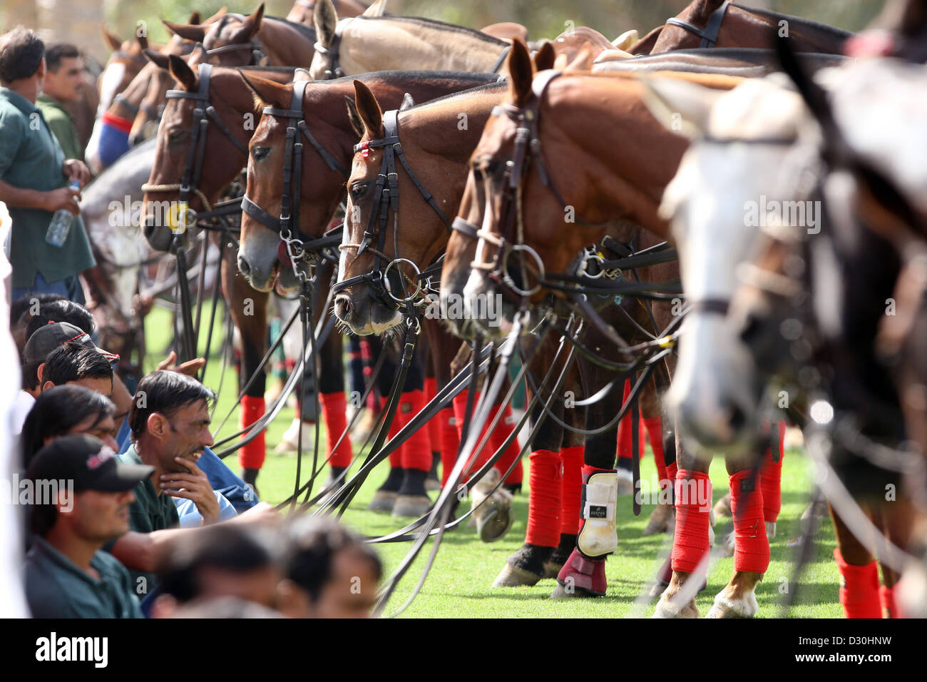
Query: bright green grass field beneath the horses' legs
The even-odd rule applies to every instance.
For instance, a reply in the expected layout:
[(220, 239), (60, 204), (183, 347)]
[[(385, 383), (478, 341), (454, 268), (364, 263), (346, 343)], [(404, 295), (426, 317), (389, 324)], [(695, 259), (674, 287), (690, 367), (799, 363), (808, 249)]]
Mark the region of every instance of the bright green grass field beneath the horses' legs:
[[(146, 319), (146, 340), (149, 353), (147, 365), (149, 368), (154, 367), (163, 356), (161, 351), (167, 348), (170, 336), (170, 314), (163, 309), (155, 309)], [(216, 338), (218, 339), (218, 334)], [(214, 341), (214, 347), (218, 348), (216, 341)], [(206, 377), (206, 383), (213, 390), (219, 389), (220, 374), (221, 362), (218, 358), (213, 358), (210, 360)], [(222, 382), (222, 391), (213, 418), (214, 428), (218, 428), (219, 421), (228, 413), (230, 406), (234, 405), (236, 397), (235, 373), (232, 367), (229, 367)], [(267, 460), (260, 472), (258, 484), (261, 498), (272, 503), (286, 499), (293, 491), (297, 468), (296, 456), (273, 452), (274, 446), (279, 442), (281, 434), (289, 426), (292, 418), (293, 409), (286, 407), (271, 424), (267, 433)], [(216, 440), (237, 431), (237, 423), (238, 416), (235, 411), (225, 426), (215, 433)], [(324, 434), (322, 435), (322, 449), (324, 449)], [(229, 461), (229, 464), (237, 470), (236, 461)], [(308, 456), (304, 454), (302, 470), (302, 480), (305, 482), (311, 470), (311, 453)], [(320, 480), (324, 480), (325, 476), (326, 474), (323, 473)], [(345, 515), (345, 521), (362, 534), (387, 534), (405, 525), (404, 520), (365, 510), (375, 488), (382, 483), (385, 476), (385, 468), (382, 473), (375, 471), (361, 493), (355, 498), (352, 508)], [(641, 478), (648, 481), (655, 478), (654, 461), (649, 453), (642, 460)], [(728, 490), (728, 477), (723, 461), (717, 460), (713, 463), (711, 478), (714, 496), (717, 500)], [(524, 540), (527, 521), (527, 480), (526, 466), (526, 489), (515, 497), (514, 525), (501, 541), (483, 544), (476, 537), (475, 529), (469, 527), (445, 534), (434, 568), (429, 573), (421, 593), (404, 611), (404, 616), (420, 618), (580, 618), (650, 616), (653, 613), (653, 604), (636, 605), (635, 599), (659, 568), (661, 557), (668, 551), (671, 537), (669, 535), (641, 537), (641, 531), (653, 506), (644, 506), (641, 515), (635, 517), (631, 510), (629, 495), (620, 497), (618, 501), (619, 544), (616, 554), (609, 557), (606, 564), (608, 577), (606, 597), (552, 600), (549, 596), (555, 585), (553, 580), (542, 580), (534, 587), (499, 589), (491, 586), (506, 558), (520, 547)], [(786, 542), (800, 532), (798, 518), (806, 507), (809, 489), (810, 463), (803, 452), (787, 451), (782, 467), (782, 510), (778, 531), (776, 537), (770, 542), (772, 557), (768, 572), (764, 581), (756, 589), (756, 598), (760, 606), (759, 617), (781, 616), (784, 593), (795, 590), (796, 587), (798, 589), (797, 598), (788, 614), (789, 617), (839, 618), (843, 615), (837, 602), (839, 577), (832, 558), (834, 542), (832, 525), (829, 520), (822, 523), (813, 560), (807, 564), (799, 585), (791, 584), (795, 550), (786, 547)], [(730, 530), (730, 519), (718, 519), (715, 529), (717, 542), (720, 542)], [(402, 560), (410, 547), (411, 543), (377, 546), (386, 564), (387, 574)], [(413, 564), (412, 570), (406, 574), (387, 606), (387, 614), (397, 611), (412, 593), (413, 585), (418, 580), (430, 547), (430, 543), (425, 546)], [(719, 559), (711, 565), (708, 586), (697, 598), (699, 610), (703, 615), (711, 607), (717, 592), (727, 584), (732, 571), (732, 559)]]

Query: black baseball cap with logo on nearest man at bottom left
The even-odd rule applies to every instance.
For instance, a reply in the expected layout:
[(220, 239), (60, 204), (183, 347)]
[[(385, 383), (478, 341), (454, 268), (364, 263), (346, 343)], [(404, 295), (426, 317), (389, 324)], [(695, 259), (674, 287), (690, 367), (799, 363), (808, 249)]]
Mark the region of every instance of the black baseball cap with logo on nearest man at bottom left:
[(62, 436), (45, 445), (32, 457), (26, 475), (32, 481), (73, 481), (75, 493), (122, 493), (132, 490), (154, 470), (144, 464), (121, 462), (99, 438), (80, 434)]

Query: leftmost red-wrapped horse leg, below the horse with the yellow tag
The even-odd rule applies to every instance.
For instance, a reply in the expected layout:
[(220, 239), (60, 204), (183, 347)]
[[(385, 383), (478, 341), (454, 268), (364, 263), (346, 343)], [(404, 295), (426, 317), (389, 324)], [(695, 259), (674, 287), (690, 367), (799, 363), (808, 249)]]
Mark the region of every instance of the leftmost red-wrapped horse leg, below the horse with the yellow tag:
[[(258, 371), (260, 360), (264, 355), (267, 338), (267, 299), (268, 294), (251, 289), (245, 277), (238, 274), (238, 267), (232, 251), (226, 251), (222, 259), (222, 289), (235, 328), (241, 335), (242, 371), (238, 376), (239, 385), (244, 386), (252, 374)], [(265, 375), (258, 376), (248, 387), (241, 399), (240, 426), (251, 426), (264, 414)], [(238, 464), (241, 477), (251, 486), (258, 480), (258, 472), (266, 457), (264, 431), (261, 431), (250, 443), (238, 450)]]

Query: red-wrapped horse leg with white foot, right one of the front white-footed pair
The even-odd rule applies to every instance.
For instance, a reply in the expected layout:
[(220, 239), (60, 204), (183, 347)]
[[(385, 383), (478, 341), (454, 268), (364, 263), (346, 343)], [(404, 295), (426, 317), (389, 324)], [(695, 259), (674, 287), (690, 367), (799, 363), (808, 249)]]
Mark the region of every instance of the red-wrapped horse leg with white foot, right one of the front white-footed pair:
[(734, 574), (705, 617), (752, 618), (759, 611), (756, 585), (769, 567), (760, 472), (750, 457), (725, 457), (725, 464), (734, 520)]

